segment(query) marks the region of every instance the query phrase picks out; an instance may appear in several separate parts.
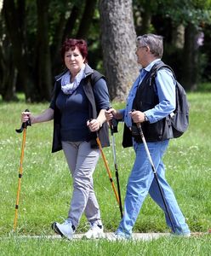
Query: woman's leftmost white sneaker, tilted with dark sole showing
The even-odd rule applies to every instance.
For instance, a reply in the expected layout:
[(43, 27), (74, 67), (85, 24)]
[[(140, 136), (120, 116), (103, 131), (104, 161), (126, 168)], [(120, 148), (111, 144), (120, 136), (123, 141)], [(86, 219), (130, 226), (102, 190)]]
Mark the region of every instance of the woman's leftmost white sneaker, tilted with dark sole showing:
[(72, 239), (74, 234), (74, 230), (72, 229), (71, 222), (66, 220), (63, 224), (59, 224), (58, 222), (54, 222), (52, 224), (52, 229), (55, 233), (59, 234), (60, 236), (66, 236), (69, 240)]

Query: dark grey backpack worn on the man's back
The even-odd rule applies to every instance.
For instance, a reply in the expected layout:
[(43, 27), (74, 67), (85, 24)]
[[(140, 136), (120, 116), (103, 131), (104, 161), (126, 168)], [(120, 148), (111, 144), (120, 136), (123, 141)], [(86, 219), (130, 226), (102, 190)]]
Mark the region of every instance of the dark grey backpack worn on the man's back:
[(180, 137), (187, 130), (189, 125), (189, 102), (183, 86), (177, 81), (174, 71), (171, 67), (164, 64), (163, 61), (157, 62), (151, 71), (151, 82), (155, 83), (157, 71), (161, 68), (168, 68), (174, 75), (176, 81), (176, 108), (173, 113), (170, 114), (170, 120), (174, 137)]

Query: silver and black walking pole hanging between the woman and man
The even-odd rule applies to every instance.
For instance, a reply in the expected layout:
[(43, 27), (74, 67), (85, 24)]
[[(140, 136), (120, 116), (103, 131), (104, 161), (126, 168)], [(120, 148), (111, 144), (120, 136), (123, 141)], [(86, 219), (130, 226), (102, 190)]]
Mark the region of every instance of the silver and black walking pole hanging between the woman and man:
[(121, 218), (123, 218), (123, 204), (121, 199), (121, 190), (120, 190), (120, 183), (119, 183), (119, 177), (118, 177), (118, 168), (117, 168), (117, 155), (116, 155), (116, 143), (115, 143), (115, 137), (114, 133), (117, 132), (117, 121), (116, 119), (111, 119), (109, 122), (110, 129), (111, 129), (111, 138), (112, 138), (112, 151), (113, 151), (113, 161), (114, 161), (114, 168), (115, 168), (115, 174), (117, 178), (117, 190), (118, 190), (118, 197), (119, 197), (119, 210), (121, 214)]

